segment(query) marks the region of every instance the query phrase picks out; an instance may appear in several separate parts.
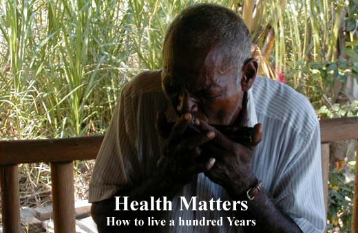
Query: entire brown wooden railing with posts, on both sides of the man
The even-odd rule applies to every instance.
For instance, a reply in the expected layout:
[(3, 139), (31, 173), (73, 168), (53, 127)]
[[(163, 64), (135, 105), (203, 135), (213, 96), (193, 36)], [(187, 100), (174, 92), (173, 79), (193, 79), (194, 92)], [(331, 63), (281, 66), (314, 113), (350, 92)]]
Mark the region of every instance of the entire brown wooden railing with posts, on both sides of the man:
[[(329, 142), (358, 139), (358, 118), (322, 120), (322, 166), (327, 192)], [(103, 136), (57, 140), (0, 141), (1, 211), (4, 233), (21, 232), (18, 164), (50, 162), (54, 230), (75, 232), (74, 160), (96, 159)], [(358, 145), (358, 143), (357, 143)], [(358, 153), (358, 146), (357, 146)], [(358, 157), (358, 156), (357, 156)], [(356, 166), (358, 164), (358, 160)], [(355, 181), (358, 180), (358, 169)], [(358, 233), (358, 186), (355, 186), (352, 232)]]

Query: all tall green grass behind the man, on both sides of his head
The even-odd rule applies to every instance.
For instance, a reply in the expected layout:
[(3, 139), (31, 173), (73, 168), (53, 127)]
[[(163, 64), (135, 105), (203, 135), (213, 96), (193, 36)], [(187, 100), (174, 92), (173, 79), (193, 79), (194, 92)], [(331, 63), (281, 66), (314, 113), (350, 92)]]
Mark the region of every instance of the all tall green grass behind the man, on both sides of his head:
[[(103, 133), (120, 87), (143, 69), (161, 67), (167, 24), (199, 2), (204, 1), (2, 0), (2, 137)], [(280, 71), (294, 88), (313, 96), (306, 88), (310, 74), (302, 68), (339, 56), (345, 1), (216, 3), (242, 14), (258, 47), (271, 28), (275, 41), (265, 56), (274, 72), (262, 74), (277, 78)], [(317, 79), (317, 87), (324, 89), (323, 83)]]

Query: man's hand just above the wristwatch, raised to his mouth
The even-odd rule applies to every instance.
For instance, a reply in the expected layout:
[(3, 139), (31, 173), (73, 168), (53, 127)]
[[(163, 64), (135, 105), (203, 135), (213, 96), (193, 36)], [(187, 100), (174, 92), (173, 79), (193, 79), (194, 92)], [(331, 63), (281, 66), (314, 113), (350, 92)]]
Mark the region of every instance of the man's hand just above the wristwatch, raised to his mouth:
[(213, 131), (215, 137), (204, 144), (203, 154), (214, 157), (214, 166), (205, 173), (211, 181), (225, 188), (231, 197), (240, 197), (255, 183), (251, 173), (251, 157), (255, 146), (262, 138), (262, 125), (256, 124), (250, 144), (233, 142), (206, 122), (196, 120), (201, 131)]

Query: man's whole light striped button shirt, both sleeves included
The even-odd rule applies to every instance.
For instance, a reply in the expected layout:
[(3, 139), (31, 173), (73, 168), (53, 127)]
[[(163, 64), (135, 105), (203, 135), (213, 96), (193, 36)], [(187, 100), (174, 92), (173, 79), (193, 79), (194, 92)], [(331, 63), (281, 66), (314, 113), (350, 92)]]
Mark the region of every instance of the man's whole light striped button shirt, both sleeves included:
[[(262, 123), (262, 141), (255, 149), (252, 170), (275, 206), (297, 223), (302, 232), (324, 232), (326, 211), (322, 184), (319, 121), (308, 100), (291, 87), (257, 76), (249, 95), (249, 126)], [(118, 190), (138, 184), (156, 168), (162, 139), (155, 129), (157, 111), (169, 121), (176, 114), (165, 99), (160, 71), (146, 71), (131, 80), (120, 98), (96, 159), (89, 184), (89, 201), (109, 199)], [(173, 211), (163, 219), (227, 219), (231, 211), (178, 210), (178, 197), (230, 200), (227, 192), (202, 173), (172, 200)], [(165, 232), (242, 232), (222, 226), (167, 225)]]

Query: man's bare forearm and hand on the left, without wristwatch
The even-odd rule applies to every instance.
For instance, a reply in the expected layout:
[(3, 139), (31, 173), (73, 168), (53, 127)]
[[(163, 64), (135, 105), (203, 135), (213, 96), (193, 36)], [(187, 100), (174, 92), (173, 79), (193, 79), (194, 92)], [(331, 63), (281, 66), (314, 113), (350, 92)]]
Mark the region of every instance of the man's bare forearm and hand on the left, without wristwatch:
[[(164, 113), (158, 113), (157, 127), (159, 131), (162, 126), (167, 126)], [(201, 155), (199, 146), (213, 139), (214, 133), (203, 131), (193, 136), (185, 136), (187, 126), (191, 124), (191, 114), (185, 114), (173, 126), (165, 144), (165, 156), (158, 161), (156, 170), (146, 177), (140, 184), (134, 184), (127, 190), (116, 192), (114, 197), (129, 197), (129, 201), (148, 201), (150, 197), (168, 197), (172, 199), (189, 183), (198, 173), (205, 172), (213, 166), (214, 159), (199, 162)], [(167, 130), (167, 129), (165, 129)], [(98, 225), (99, 232), (133, 232), (134, 219), (147, 219), (147, 217), (158, 217), (159, 211), (115, 211), (116, 199), (112, 197), (105, 201), (92, 204), (92, 217)], [(107, 226), (107, 217), (127, 219), (131, 221), (129, 227)], [(138, 226), (135, 227), (139, 228)], [(145, 232), (156, 232), (156, 228), (148, 227), (147, 224), (140, 227)]]

